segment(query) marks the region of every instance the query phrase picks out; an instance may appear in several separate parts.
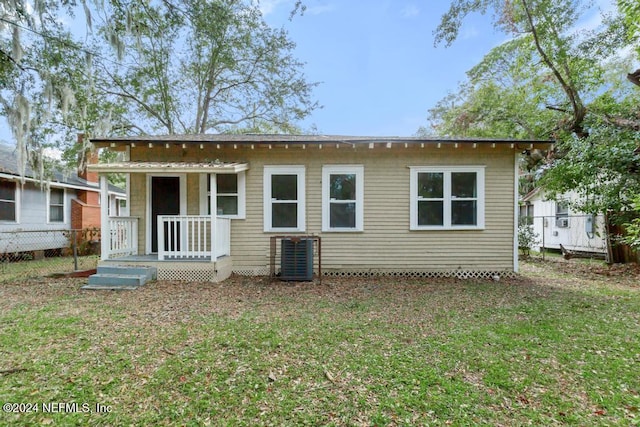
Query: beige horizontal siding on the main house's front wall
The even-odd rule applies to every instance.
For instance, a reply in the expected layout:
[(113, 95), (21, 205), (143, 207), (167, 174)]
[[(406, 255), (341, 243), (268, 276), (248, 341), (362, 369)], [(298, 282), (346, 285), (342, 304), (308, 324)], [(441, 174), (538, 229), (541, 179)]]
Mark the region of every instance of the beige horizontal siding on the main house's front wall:
[[(171, 146), (135, 148), (132, 160), (245, 161), (247, 171), (246, 219), (232, 220), (231, 253), (234, 270), (266, 271), (269, 237), (263, 231), (263, 167), (306, 167), (306, 233), (322, 237), (325, 269), (389, 270), (512, 270), (514, 264), (514, 159), (513, 149), (443, 146), (356, 149), (324, 146), (273, 147), (256, 145), (237, 149), (182, 150)], [(364, 166), (364, 231), (322, 232), (322, 166)], [(409, 230), (409, 166), (485, 166), (485, 229), (471, 231)], [(144, 178), (132, 176), (131, 213), (144, 217)], [(199, 213), (199, 180), (188, 176), (188, 213)], [(134, 190), (137, 194), (133, 194)], [(140, 223), (144, 242), (144, 221)], [(143, 245), (141, 245), (143, 246)]]

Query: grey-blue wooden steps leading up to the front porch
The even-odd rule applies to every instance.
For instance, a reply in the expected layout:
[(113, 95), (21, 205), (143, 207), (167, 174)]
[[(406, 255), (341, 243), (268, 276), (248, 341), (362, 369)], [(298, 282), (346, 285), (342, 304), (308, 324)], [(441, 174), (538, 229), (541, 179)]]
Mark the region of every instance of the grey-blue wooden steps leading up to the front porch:
[(101, 266), (82, 289), (133, 290), (156, 279), (154, 267)]

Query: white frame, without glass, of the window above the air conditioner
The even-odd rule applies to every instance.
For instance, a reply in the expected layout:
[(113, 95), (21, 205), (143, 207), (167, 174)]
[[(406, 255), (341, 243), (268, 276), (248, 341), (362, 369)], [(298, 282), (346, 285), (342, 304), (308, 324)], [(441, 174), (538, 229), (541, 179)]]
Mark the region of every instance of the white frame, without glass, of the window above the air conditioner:
[[(297, 227), (272, 227), (272, 204), (274, 200), (271, 198), (271, 177), (273, 175), (296, 175), (297, 187), (298, 187), (298, 218)], [(265, 166), (263, 174), (263, 216), (264, 216), (264, 231), (265, 232), (304, 232), (306, 229), (305, 223), (305, 206), (306, 206), (306, 193), (305, 193), (305, 181), (306, 181), (306, 168), (299, 165), (283, 165), (283, 166)]]

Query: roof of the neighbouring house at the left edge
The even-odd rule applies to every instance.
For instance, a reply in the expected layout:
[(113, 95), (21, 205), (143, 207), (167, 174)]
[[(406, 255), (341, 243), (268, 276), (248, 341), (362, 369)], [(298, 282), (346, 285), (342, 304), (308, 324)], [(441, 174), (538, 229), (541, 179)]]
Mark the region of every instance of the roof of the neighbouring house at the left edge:
[[(20, 168), (18, 167), (17, 148), (0, 143), (0, 177), (19, 178)], [(26, 165), (24, 169), (24, 177), (30, 182), (40, 182), (40, 178), (30, 165)], [(69, 187), (80, 190), (99, 191), (98, 183), (89, 182), (80, 178), (76, 174), (65, 173), (61, 169), (53, 171), (53, 176), (48, 181), (53, 186)], [(115, 185), (109, 184), (109, 192), (125, 195), (125, 191)]]

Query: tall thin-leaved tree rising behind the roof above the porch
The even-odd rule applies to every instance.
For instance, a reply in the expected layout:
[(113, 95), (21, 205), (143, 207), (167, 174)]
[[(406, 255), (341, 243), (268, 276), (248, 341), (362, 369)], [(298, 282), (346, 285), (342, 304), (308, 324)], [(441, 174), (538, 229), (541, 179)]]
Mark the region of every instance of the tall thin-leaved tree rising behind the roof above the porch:
[[(104, 90), (138, 132), (206, 133), (262, 121), (286, 132), (318, 107), (283, 29), (245, 0), (113, 2), (103, 34), (127, 46)], [(135, 23), (132, 25), (132, 23)]]

